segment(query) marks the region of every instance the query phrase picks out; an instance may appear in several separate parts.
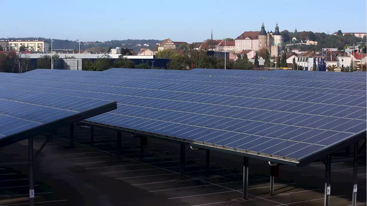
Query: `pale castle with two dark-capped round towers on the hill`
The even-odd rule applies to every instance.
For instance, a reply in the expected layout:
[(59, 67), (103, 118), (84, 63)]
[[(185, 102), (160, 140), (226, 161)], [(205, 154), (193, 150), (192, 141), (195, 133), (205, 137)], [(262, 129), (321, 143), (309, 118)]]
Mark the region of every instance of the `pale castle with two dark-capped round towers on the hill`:
[(235, 39), (235, 54), (246, 50), (258, 51), (261, 48), (268, 49), (272, 56), (280, 54), (283, 48), (283, 38), (279, 32), (278, 23), (274, 32), (266, 32), (264, 23), (262, 23), (259, 32), (244, 32)]

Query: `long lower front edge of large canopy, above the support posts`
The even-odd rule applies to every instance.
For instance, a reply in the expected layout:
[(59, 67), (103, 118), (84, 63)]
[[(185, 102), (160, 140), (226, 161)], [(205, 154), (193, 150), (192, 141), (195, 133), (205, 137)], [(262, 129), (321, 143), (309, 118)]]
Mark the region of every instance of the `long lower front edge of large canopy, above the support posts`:
[(260, 152), (253, 152), (253, 151), (242, 150), (242, 149), (237, 149), (237, 148), (232, 148), (232, 147), (218, 146), (218, 145), (215, 145), (215, 144), (203, 143), (203, 142), (199, 142), (199, 141), (187, 140), (187, 139), (182, 139), (182, 138), (178, 138), (178, 137), (171, 137), (171, 136), (167, 136), (167, 135), (159, 135), (159, 134), (156, 134), (156, 133), (144, 132), (144, 131), (141, 131), (141, 130), (123, 128), (123, 127), (119, 127), (119, 126), (106, 125), (106, 124), (101, 124), (101, 123), (98, 123), (98, 122), (92, 122), (92, 121), (87, 121), (87, 120), (83, 120), (81, 122), (85, 123), (85, 124), (88, 124), (88, 125), (95, 125), (95, 126), (101, 126), (101, 127), (109, 128), (109, 129), (123, 130), (123, 131), (126, 131), (126, 132), (132, 132), (132, 133), (138, 134), (138, 135), (148, 135), (149, 137), (164, 138), (164, 139), (169, 140), (169, 141), (175, 141), (175, 142), (195, 145), (195, 147), (199, 147), (199, 148), (206, 148), (206, 149), (210, 149), (210, 150), (226, 152), (226, 153), (229, 153), (229, 154), (236, 154), (236, 155), (240, 155), (240, 156), (244, 156), (244, 157), (250, 157), (250, 158), (254, 158), (254, 159), (261, 159), (261, 160), (264, 160), (264, 161), (271, 161), (271, 162), (281, 163), (281, 164), (284, 164), (284, 165), (297, 166), (299, 164), (299, 161), (297, 159), (280, 157), (280, 156), (276, 156), (276, 155), (268, 155), (268, 154), (264, 154), (264, 153), (260, 153)]

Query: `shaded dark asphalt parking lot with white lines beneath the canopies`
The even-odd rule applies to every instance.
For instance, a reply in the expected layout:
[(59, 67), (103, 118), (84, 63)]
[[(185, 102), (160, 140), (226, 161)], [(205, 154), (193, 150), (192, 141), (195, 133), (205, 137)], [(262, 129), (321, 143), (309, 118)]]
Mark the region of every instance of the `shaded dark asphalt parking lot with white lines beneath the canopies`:
[[(105, 205), (130, 201), (135, 205), (187, 206), (321, 206), (324, 203), (323, 163), (315, 162), (303, 168), (281, 166), (280, 178), (275, 180), (275, 195), (271, 196), (268, 163), (250, 159), (249, 199), (244, 200), (241, 198), (241, 157), (211, 151), (210, 176), (206, 177), (205, 150), (186, 147), (185, 179), (181, 180), (179, 144), (148, 139), (141, 159), (140, 140), (123, 134), (122, 161), (119, 162), (115, 156), (115, 133), (96, 128), (95, 143), (91, 146), (90, 130), (76, 126), (75, 147), (68, 148), (69, 128), (59, 129), (36, 160), (36, 167), (49, 168), (46, 175), (44, 170), (37, 171), (41, 173), (38, 177), (36, 173), (37, 205), (98, 205), (97, 202), (103, 201), (109, 202)], [(40, 147), (46, 138), (47, 134), (34, 138), (34, 147)], [(28, 141), (16, 144), (26, 148)], [(24, 168), (1, 168), (1, 206), (28, 204)], [(330, 205), (351, 205), (352, 170), (351, 163), (332, 164)], [(367, 165), (363, 163), (359, 164), (358, 182), (357, 203), (364, 206), (367, 205)], [(81, 191), (82, 184), (90, 184), (89, 187), (95, 187), (91, 191), (103, 195)]]

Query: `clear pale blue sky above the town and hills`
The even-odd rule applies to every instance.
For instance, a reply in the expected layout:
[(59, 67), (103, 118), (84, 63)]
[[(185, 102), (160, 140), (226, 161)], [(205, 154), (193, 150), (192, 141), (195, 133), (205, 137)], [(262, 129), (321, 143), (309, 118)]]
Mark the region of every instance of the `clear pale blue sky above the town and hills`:
[[(266, 5), (267, 4), (267, 5)], [(264, 5), (265, 8), (264, 8)], [(244, 31), (367, 32), (366, 0), (0, 0), (0, 38), (81, 41), (236, 38)], [(19, 15), (18, 15), (19, 14)], [(362, 15), (360, 18), (356, 18)], [(5, 18), (5, 19), (4, 19)]]

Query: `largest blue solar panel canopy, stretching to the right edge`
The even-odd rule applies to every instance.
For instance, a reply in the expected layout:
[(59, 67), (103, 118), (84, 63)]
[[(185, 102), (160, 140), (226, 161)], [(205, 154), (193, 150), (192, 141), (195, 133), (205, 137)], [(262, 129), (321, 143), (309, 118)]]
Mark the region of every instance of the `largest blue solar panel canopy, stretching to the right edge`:
[(117, 110), (87, 119), (93, 124), (290, 165), (366, 137), (365, 73), (34, 70), (1, 82), (116, 100)]

